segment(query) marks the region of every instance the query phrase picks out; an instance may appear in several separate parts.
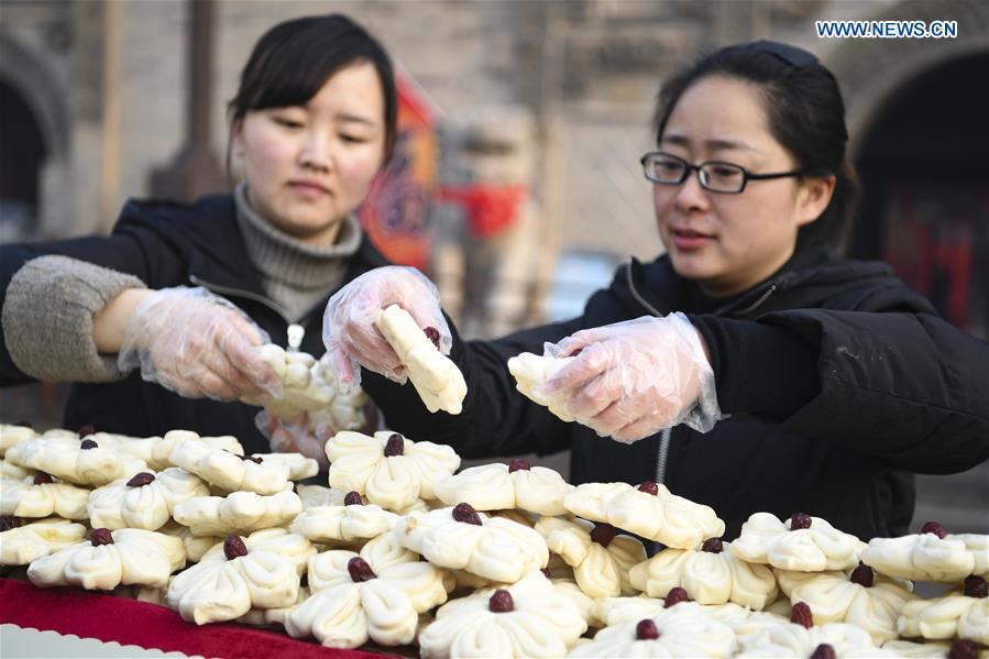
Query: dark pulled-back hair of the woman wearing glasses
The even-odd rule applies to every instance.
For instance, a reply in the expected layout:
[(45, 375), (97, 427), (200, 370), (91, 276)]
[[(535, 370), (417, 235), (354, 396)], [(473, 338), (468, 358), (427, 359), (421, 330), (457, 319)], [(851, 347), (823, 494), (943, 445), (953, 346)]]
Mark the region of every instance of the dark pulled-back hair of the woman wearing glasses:
[(858, 178), (845, 154), (845, 102), (834, 75), (811, 53), (787, 44), (760, 41), (721, 48), (662, 86), (653, 117), (657, 142), (683, 92), (707, 76), (757, 85), (769, 130), (793, 155), (796, 166), (811, 176), (835, 176), (831, 202), (820, 218), (800, 228), (796, 250), (843, 246), (858, 204)]

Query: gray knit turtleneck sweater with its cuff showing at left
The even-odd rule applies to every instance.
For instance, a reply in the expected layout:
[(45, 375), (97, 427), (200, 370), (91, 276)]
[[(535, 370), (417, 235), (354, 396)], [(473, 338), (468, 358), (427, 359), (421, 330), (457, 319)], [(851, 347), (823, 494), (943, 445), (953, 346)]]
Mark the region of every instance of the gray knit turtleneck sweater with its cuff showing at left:
[[(234, 190), (237, 221), (248, 255), (265, 293), (297, 321), (340, 285), (361, 243), (353, 216), (340, 228), (336, 244), (320, 248), (298, 241), (259, 216), (246, 188)], [(47, 382), (112, 382), (127, 376), (117, 355), (101, 355), (92, 340), (92, 317), (128, 288), (144, 282), (67, 256), (40, 256), (11, 278), (0, 326), (13, 363)], [(44, 300), (44, 304), (39, 304)]]

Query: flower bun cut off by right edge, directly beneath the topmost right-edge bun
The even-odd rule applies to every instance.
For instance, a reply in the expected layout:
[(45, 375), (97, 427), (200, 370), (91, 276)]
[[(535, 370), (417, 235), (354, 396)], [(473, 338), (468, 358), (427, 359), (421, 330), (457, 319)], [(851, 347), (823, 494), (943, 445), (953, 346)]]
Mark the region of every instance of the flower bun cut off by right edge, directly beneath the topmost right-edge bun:
[(933, 600), (912, 600), (897, 620), (900, 636), (933, 640), (967, 638), (989, 645), (989, 589), (981, 576)]

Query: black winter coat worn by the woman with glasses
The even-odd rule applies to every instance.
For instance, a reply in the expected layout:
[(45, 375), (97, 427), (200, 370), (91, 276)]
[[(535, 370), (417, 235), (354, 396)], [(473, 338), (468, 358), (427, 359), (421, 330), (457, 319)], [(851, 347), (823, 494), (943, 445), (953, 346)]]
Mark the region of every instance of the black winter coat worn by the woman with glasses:
[[(667, 257), (623, 266), (583, 316), (487, 342), (454, 337), (468, 383), (463, 413), (430, 415), (411, 385), (373, 374), (364, 388), (391, 428), (465, 457), (570, 448), (571, 481), (652, 480), (712, 506), (725, 538), (755, 512), (806, 512), (868, 539), (906, 532), (913, 473), (952, 473), (989, 457), (989, 347), (942, 320), (882, 263), (824, 252), (713, 314), (690, 316), (690, 287)], [(579, 329), (673, 310), (713, 353), (730, 417), (706, 435), (685, 426), (633, 444), (564, 424), (523, 397), (506, 367)], [(454, 330), (455, 333), (455, 330)]]

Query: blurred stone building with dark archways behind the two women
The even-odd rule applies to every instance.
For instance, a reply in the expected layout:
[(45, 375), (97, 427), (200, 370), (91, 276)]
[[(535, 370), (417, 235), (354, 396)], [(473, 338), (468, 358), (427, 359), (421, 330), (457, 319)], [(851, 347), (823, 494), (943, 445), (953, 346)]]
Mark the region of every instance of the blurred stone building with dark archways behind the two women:
[[(376, 34), (402, 78), (402, 157), (362, 218), (469, 337), (579, 314), (616, 264), (661, 252), (638, 164), (659, 81), (754, 39), (810, 50), (842, 84), (865, 188), (851, 253), (989, 336), (980, 0), (0, 0), (0, 242), (107, 232), (128, 197), (222, 189), (226, 102), (254, 41), (331, 11)], [(817, 39), (829, 19), (958, 33)], [(57, 398), (0, 392), (0, 415), (57, 424)], [(961, 483), (985, 513), (989, 471), (966, 477), (927, 492)]]

